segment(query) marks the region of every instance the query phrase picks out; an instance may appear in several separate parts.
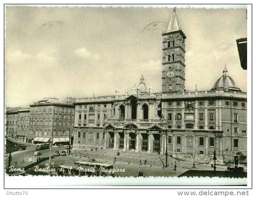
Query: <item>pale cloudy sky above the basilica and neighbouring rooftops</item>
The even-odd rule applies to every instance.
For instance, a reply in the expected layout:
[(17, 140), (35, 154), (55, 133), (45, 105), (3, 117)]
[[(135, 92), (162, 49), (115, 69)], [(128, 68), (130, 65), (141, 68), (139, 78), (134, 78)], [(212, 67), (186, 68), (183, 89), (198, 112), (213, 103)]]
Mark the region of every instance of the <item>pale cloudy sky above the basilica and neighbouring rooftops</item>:
[[(6, 7), (6, 107), (46, 97), (124, 94), (144, 82), (161, 92), (162, 36), (169, 8)], [(247, 92), (236, 39), (247, 37), (246, 9), (177, 8), (186, 34), (185, 88), (210, 90), (224, 67)]]

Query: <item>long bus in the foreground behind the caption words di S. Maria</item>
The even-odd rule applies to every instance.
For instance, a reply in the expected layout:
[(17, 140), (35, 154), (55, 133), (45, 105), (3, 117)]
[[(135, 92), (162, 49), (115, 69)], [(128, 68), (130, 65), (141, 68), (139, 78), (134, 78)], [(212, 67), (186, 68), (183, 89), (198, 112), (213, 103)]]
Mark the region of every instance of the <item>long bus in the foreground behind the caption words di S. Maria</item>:
[(74, 164), (62, 164), (57, 168), (58, 175), (66, 176), (99, 176), (100, 170), (96, 167), (85, 167)]

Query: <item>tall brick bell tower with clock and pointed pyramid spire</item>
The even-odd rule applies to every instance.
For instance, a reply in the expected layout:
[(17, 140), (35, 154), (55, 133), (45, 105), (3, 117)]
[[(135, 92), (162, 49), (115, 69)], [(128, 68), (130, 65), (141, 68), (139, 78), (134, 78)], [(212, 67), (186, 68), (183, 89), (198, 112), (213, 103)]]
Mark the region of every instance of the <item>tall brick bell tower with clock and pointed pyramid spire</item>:
[(185, 39), (173, 9), (172, 19), (163, 36), (162, 92), (185, 89)]

